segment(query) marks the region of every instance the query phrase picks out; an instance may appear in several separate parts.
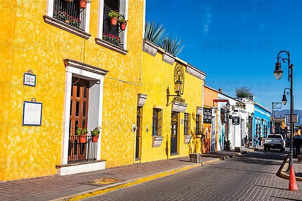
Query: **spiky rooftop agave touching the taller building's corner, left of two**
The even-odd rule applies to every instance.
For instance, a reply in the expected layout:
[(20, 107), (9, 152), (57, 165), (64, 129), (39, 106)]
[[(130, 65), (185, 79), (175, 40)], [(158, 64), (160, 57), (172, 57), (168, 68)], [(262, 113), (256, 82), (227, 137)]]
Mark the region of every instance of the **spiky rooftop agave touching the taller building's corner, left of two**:
[(166, 29), (163, 24), (158, 23), (155, 24), (155, 21), (146, 22), (145, 24), (145, 33), (144, 38), (150, 42), (153, 42), (156, 45), (160, 45), (160, 43), (166, 38), (167, 34), (165, 33)]

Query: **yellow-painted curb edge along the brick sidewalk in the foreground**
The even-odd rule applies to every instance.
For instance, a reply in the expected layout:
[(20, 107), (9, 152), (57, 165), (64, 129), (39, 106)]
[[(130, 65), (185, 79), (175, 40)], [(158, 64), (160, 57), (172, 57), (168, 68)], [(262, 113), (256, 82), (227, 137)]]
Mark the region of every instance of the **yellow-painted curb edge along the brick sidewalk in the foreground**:
[(77, 193), (77, 194), (74, 194), (74, 195), (68, 195), (68, 196), (57, 198), (57, 199), (52, 199), (51, 201), (81, 200), (81, 199), (93, 197), (93, 196), (96, 196), (96, 195), (101, 195), (101, 194), (104, 194), (104, 193), (107, 193), (107, 192), (110, 192), (110, 191), (113, 191), (113, 190), (117, 190), (117, 189), (120, 189), (120, 188), (129, 187), (129, 186), (132, 186), (132, 185), (135, 185), (135, 184), (139, 184), (139, 183), (143, 183), (143, 182), (146, 182), (146, 181), (150, 181), (150, 180), (162, 178), (162, 177), (165, 177), (165, 176), (169, 176), (169, 175), (172, 175), (172, 174), (176, 174), (176, 173), (186, 171), (186, 170), (189, 170), (189, 169), (201, 166), (201, 165), (202, 165), (201, 163), (194, 164), (194, 165), (187, 165), (187, 166), (184, 166), (184, 167), (180, 167), (180, 168), (176, 168), (176, 169), (167, 170), (167, 171), (163, 171), (163, 172), (160, 172), (160, 173), (152, 174), (152, 175), (149, 175), (149, 176), (146, 176), (146, 177), (140, 177), (140, 178), (136, 178), (136, 179), (133, 179), (133, 180), (128, 180), (128, 181), (115, 183), (115, 184), (112, 184), (112, 185), (108, 185), (108, 186), (104, 186), (104, 187), (84, 191), (84, 192)]

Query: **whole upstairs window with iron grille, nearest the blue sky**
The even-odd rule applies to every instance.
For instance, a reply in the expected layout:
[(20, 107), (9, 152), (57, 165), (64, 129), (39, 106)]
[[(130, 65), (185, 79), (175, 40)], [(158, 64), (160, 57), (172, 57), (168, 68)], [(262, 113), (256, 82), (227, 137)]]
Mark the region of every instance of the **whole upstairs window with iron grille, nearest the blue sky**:
[(123, 9), (125, 9), (124, 7), (125, 4), (117, 0), (104, 1), (102, 39), (121, 48), (124, 48), (125, 31), (122, 31), (118, 24), (116, 26), (111, 25), (108, 15), (111, 11), (116, 11), (121, 15), (121, 18), (125, 19), (125, 11), (123, 11)]

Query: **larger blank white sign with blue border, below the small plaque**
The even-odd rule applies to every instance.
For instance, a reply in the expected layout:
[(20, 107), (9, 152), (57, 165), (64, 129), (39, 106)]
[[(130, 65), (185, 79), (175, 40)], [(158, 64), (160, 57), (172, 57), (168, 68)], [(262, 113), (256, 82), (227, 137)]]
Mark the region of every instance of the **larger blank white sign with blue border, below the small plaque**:
[(23, 102), (23, 126), (41, 126), (42, 103)]

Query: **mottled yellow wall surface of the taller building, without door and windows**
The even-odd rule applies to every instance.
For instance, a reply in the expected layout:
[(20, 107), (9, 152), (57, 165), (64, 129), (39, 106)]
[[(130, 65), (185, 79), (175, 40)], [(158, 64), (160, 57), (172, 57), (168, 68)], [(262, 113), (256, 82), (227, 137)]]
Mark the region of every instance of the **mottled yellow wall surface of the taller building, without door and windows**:
[[(140, 83), (143, 1), (132, 4), (136, 8), (128, 11), (127, 55), (95, 43), (99, 1), (91, 3), (89, 40), (46, 24), (46, 9), (42, 7), (45, 2), (35, 7), (36, 1), (29, 1), (31, 7), (26, 9), (13, 7), (16, 2), (9, 2), (0, 12), (0, 36), (10, 44), (0, 57), (1, 81), (9, 84), (1, 86), (0, 115), (5, 123), (1, 125), (0, 180), (52, 175), (55, 165), (60, 164), (64, 58), (81, 62), (85, 59), (87, 64), (109, 70), (107, 77), (123, 80), (105, 78), (103, 122), (108, 124), (103, 125), (106, 128), (102, 133), (101, 158), (107, 159), (109, 166), (133, 163), (131, 126), (121, 126), (135, 123), (136, 119), (139, 86), (124, 81)], [(36, 87), (23, 86), (23, 73), (29, 69), (37, 75)], [(22, 126), (23, 101), (32, 97), (43, 103), (41, 127)]]

